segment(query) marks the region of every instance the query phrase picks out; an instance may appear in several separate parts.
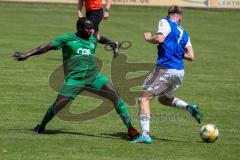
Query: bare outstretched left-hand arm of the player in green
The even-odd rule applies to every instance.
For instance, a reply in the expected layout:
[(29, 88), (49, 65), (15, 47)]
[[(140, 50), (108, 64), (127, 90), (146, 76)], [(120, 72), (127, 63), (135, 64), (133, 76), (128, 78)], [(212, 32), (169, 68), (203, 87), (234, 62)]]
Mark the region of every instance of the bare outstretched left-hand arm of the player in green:
[(39, 46), (31, 51), (28, 52), (15, 52), (13, 54), (13, 57), (15, 58), (15, 60), (17, 61), (22, 61), (22, 60), (26, 60), (28, 57), (30, 56), (34, 56), (34, 55), (39, 55), (39, 54), (43, 54), (49, 50), (54, 49), (55, 47), (51, 44), (44, 44), (42, 46)]

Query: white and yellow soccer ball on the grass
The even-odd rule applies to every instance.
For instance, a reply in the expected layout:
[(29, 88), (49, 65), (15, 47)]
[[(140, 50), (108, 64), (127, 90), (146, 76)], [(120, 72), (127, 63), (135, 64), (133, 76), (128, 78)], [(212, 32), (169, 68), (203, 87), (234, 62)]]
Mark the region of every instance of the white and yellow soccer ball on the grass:
[(219, 131), (213, 124), (206, 124), (200, 130), (200, 137), (204, 142), (213, 143), (218, 139)]

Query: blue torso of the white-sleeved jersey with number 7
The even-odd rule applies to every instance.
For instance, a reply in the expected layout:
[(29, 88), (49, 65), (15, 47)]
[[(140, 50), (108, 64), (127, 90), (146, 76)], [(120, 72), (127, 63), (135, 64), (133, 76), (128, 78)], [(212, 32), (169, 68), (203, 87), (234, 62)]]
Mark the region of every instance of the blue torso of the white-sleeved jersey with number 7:
[(158, 45), (157, 66), (164, 69), (184, 69), (184, 49), (189, 41), (187, 32), (169, 18), (164, 18), (171, 31), (163, 43)]

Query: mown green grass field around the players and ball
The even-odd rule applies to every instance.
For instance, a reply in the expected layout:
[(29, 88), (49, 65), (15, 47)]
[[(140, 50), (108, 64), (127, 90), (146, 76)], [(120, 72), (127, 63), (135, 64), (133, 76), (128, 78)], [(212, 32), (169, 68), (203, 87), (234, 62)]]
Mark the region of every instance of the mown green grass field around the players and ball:
[[(143, 40), (155, 32), (166, 8), (115, 6), (101, 33), (115, 40), (131, 40), (129, 63), (154, 63), (156, 47)], [(60, 51), (13, 61), (14, 51), (26, 51), (63, 33), (75, 31), (76, 6), (0, 2), (0, 160), (236, 160), (240, 159), (240, 11), (185, 9), (183, 27), (191, 35), (196, 61), (186, 62), (186, 76), (177, 96), (200, 104), (204, 124), (215, 124), (219, 140), (203, 143), (198, 125), (186, 111), (152, 102), (153, 144), (130, 144), (115, 111), (97, 119), (67, 122), (59, 118), (47, 126), (48, 134), (33, 135), (56, 92), (48, 78), (61, 64)], [(99, 45), (97, 57), (110, 75), (112, 56)], [(140, 85), (140, 84), (139, 84)], [(118, 86), (122, 87), (122, 86)], [(126, 95), (125, 95), (126, 96)], [(101, 103), (78, 97), (73, 113)], [(138, 126), (137, 105), (129, 107)], [(174, 119), (175, 116), (188, 117)]]

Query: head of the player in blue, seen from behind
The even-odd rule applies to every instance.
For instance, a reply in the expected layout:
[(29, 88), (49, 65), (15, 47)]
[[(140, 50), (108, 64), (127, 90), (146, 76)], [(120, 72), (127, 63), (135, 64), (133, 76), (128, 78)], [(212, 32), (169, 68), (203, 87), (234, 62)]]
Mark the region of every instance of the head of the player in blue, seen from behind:
[(180, 23), (182, 19), (182, 8), (177, 5), (172, 5), (168, 8), (168, 17)]

